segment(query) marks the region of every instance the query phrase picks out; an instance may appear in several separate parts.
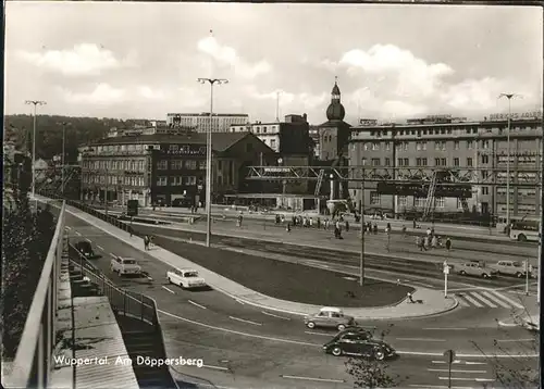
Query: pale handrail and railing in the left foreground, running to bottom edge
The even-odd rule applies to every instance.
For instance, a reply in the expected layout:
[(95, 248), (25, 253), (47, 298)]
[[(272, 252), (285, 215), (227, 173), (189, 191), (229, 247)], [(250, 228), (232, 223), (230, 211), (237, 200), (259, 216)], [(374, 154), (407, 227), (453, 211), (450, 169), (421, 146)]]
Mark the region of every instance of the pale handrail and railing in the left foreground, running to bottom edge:
[(46, 388), (52, 371), (57, 342), (57, 309), (64, 239), (63, 201), (53, 239), (47, 253), (34, 299), (28, 310), (7, 388)]

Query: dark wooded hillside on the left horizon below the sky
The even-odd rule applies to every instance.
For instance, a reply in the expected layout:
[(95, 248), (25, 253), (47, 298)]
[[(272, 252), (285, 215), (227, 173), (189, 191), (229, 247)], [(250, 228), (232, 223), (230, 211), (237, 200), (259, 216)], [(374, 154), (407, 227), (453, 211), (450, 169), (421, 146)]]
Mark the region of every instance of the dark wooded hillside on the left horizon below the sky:
[[(24, 149), (25, 141), (32, 152), (33, 116), (4, 116), (4, 140), (13, 140), (18, 149)], [(45, 160), (62, 152), (62, 123), (66, 126), (66, 163), (77, 160), (77, 148), (82, 145), (103, 138), (111, 127), (132, 127), (147, 121), (99, 117), (70, 117), (58, 115), (38, 115), (36, 117), (36, 158)]]

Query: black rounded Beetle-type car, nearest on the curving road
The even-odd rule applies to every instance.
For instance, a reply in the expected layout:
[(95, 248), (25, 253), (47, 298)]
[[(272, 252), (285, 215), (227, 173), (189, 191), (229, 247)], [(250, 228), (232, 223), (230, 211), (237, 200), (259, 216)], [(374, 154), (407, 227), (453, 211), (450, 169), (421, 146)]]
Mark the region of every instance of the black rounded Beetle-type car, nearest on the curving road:
[(383, 340), (372, 338), (368, 331), (344, 330), (323, 344), (323, 351), (334, 356), (358, 355), (383, 361), (397, 355)]

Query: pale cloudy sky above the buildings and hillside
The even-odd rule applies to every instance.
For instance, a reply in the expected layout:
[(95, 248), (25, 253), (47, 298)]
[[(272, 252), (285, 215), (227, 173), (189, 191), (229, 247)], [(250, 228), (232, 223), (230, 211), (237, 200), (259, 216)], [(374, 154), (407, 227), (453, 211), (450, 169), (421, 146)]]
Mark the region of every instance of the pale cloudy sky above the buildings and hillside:
[[(326, 120), (338, 77), (346, 121), (482, 117), (542, 106), (541, 8), (14, 2), (7, 7), (5, 111), (165, 118)], [(46, 16), (47, 15), (47, 16)], [(210, 35), (210, 30), (213, 34)]]

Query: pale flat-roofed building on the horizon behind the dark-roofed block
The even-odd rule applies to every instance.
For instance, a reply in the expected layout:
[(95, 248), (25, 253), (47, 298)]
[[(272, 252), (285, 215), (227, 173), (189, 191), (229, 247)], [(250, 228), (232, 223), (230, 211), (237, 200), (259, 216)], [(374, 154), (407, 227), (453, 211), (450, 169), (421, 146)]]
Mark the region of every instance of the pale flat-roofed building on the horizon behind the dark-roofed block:
[[(245, 113), (214, 113), (212, 122), (212, 133), (228, 133), (232, 125), (249, 123), (249, 115)], [(166, 126), (181, 126), (194, 128), (198, 133), (206, 133), (210, 128), (210, 113), (169, 113)]]

